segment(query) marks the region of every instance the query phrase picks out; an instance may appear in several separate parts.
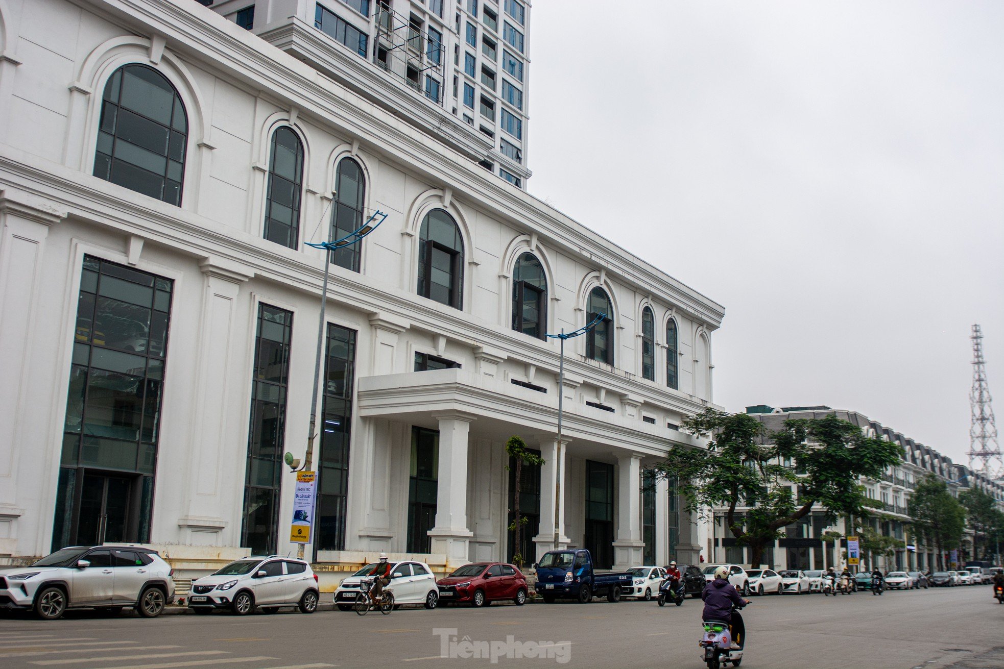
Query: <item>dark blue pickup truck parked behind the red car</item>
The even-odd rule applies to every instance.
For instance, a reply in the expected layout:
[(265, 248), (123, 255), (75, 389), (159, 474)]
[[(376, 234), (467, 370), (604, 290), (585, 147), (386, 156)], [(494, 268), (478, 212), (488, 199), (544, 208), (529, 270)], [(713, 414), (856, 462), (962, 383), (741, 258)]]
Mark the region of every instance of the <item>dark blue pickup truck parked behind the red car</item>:
[(593, 597), (606, 596), (607, 602), (620, 601), (620, 592), (630, 588), (630, 572), (596, 572), (592, 556), (585, 549), (549, 551), (534, 565), (537, 572), (537, 594), (550, 604), (556, 599), (591, 602)]

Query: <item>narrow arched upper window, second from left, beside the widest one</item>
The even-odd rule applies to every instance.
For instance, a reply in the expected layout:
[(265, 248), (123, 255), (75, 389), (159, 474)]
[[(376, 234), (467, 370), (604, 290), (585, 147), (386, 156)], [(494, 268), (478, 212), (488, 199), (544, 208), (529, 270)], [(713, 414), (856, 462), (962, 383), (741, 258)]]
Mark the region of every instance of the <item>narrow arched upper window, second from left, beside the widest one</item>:
[(300, 232), (303, 144), (288, 125), (272, 133), (265, 204), (265, 239), (295, 249)]

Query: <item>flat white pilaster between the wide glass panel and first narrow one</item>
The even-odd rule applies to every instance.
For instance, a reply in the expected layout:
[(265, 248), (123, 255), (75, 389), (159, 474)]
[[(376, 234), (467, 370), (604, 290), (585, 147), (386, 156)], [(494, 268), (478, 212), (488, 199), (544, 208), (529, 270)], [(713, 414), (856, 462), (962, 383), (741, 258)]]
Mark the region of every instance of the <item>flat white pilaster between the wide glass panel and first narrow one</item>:
[[(192, 460), (189, 472), (189, 505), (178, 519), (182, 538), (196, 546), (238, 546), (242, 509), (234, 508), (243, 486), (243, 471), (232, 475), (235, 457), (247, 454), (247, 432), (238, 428), (235, 416), (247, 420), (245, 383), (235, 384), (235, 372), (243, 360), (248, 341), (237, 321), (237, 296), (241, 284), (250, 279), (251, 268), (217, 258), (200, 264), (204, 275), (202, 317), (199, 328), (195, 415), (192, 417)], [(245, 323), (247, 327), (250, 327)], [(244, 372), (246, 376), (246, 371)], [(234, 404), (234, 399), (240, 404)], [(238, 408), (239, 407), (239, 408)], [(227, 472), (224, 475), (224, 471)]]

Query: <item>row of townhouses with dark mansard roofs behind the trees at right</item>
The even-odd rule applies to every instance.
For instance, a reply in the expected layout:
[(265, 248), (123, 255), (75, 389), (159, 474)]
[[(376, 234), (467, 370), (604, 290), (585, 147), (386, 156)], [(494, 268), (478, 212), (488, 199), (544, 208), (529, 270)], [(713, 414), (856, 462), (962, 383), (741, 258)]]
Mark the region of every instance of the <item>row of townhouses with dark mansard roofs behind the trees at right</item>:
[[(872, 517), (864, 524), (874, 532), (898, 539), (903, 547), (896, 549), (891, 558), (885, 556), (862, 556), (861, 569), (880, 567), (884, 570), (937, 570), (948, 569), (951, 554), (938, 561), (936, 547), (927, 545), (911, 529), (909, 514), (910, 495), (918, 481), (927, 475), (937, 476), (948, 484), (952, 494), (970, 487), (980, 487), (993, 495), (1004, 509), (1004, 484), (973, 471), (967, 466), (954, 463), (951, 458), (896, 430), (886, 427), (856, 411), (832, 409), (828, 406), (772, 407), (766, 404), (746, 407), (746, 412), (760, 422), (767, 433), (782, 430), (789, 418), (821, 418), (835, 415), (857, 425), (865, 436), (877, 437), (900, 445), (900, 462), (890, 467), (877, 480), (862, 478), (865, 494), (873, 503)], [(748, 564), (749, 549), (739, 545), (732, 533), (725, 527), (724, 509), (713, 510), (709, 522), (701, 533), (707, 555), (716, 562)], [(748, 508), (739, 508), (741, 515)], [(856, 529), (855, 529), (856, 530)], [(841, 537), (853, 535), (847, 527), (847, 519), (833, 517), (822, 509), (813, 510), (799, 523), (789, 526), (784, 537), (775, 542), (773, 548), (764, 553), (763, 561), (776, 569), (820, 570), (828, 567), (841, 568), (846, 565), (846, 544), (824, 541), (826, 533), (838, 533)], [(944, 547), (955, 550), (956, 562), (961, 567), (965, 560), (973, 557), (973, 533), (967, 532), (960, 547)]]

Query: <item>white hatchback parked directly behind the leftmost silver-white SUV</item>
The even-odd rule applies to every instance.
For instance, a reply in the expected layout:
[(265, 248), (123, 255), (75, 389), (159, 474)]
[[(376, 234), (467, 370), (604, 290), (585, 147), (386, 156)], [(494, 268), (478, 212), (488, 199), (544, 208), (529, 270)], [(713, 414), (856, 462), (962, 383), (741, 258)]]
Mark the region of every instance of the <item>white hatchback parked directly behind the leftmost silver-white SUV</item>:
[(293, 606), (313, 613), (317, 593), (317, 575), (302, 560), (251, 556), (193, 581), (188, 606), (196, 613), (228, 609), (238, 616)]

